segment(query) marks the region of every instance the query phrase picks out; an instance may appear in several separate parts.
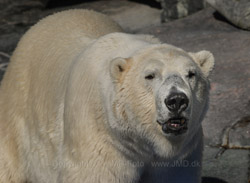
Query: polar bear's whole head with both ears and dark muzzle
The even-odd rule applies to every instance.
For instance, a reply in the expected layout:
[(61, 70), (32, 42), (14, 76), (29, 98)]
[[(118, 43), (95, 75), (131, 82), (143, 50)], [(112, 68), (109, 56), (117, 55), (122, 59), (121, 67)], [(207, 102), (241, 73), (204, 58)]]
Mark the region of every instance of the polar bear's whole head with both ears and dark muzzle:
[(118, 131), (151, 144), (156, 154), (175, 153), (201, 127), (213, 66), (208, 51), (187, 53), (166, 44), (114, 59), (110, 74)]

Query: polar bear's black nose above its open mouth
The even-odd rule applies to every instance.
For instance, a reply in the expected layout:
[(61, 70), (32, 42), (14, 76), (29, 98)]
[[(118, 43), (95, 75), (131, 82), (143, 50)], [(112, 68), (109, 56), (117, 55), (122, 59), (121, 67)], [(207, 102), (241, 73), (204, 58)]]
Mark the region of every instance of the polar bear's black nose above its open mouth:
[(184, 93), (171, 93), (166, 99), (165, 104), (169, 111), (174, 113), (181, 113), (188, 107), (188, 98)]

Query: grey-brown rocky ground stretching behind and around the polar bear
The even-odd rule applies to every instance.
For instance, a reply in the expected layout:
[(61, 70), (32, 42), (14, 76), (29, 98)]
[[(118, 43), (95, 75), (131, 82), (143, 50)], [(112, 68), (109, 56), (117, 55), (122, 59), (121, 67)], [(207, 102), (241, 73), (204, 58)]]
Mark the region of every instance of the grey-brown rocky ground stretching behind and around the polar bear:
[[(38, 19), (63, 9), (23, 7), (0, 14), (0, 79), (23, 33)], [(129, 1), (94, 1), (73, 6), (110, 15), (126, 31), (153, 34), (188, 51), (213, 52), (210, 109), (203, 122), (203, 183), (250, 182), (250, 32), (228, 23), (212, 8), (160, 23), (160, 10)]]

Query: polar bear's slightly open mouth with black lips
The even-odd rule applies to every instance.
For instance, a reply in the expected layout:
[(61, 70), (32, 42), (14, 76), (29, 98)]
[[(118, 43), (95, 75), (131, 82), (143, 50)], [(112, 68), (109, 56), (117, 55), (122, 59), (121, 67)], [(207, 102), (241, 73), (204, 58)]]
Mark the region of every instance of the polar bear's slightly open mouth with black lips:
[(180, 135), (187, 131), (187, 119), (183, 117), (170, 118), (168, 121), (161, 123), (162, 131), (166, 134), (172, 133), (174, 135)]

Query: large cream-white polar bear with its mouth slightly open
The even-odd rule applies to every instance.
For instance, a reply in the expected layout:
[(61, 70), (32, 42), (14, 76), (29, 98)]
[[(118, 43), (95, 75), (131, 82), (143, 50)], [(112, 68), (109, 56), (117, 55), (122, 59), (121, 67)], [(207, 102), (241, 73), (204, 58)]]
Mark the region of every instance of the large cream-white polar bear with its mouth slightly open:
[(48, 16), (1, 83), (0, 183), (200, 182), (213, 66), (94, 11)]

